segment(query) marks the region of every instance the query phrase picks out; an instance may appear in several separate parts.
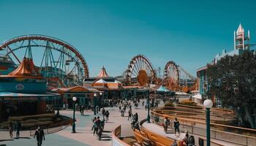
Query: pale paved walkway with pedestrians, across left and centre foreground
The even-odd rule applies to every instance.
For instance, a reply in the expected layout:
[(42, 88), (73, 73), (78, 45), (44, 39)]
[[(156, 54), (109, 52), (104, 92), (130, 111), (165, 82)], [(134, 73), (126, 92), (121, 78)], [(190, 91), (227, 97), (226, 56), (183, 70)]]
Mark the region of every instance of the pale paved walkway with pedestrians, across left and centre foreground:
[[(141, 102), (140, 102), (141, 104)], [(72, 134), (72, 127), (69, 126), (62, 131), (58, 131), (54, 134), (45, 135), (45, 141), (42, 142), (43, 146), (108, 146), (112, 145), (111, 132), (113, 128), (121, 125), (121, 137), (129, 137), (133, 135), (132, 129), (130, 128), (130, 120), (127, 120), (128, 111), (124, 114), (124, 117), (121, 117), (120, 112), (118, 111), (118, 107), (108, 107), (105, 108), (110, 112), (110, 118), (108, 123), (105, 123), (104, 132), (102, 135), (102, 140), (97, 140), (96, 134), (93, 135), (91, 131), (92, 119), (94, 118), (94, 112), (85, 111), (85, 115), (80, 115), (80, 112), (75, 113), (76, 122), (76, 132)], [(139, 105), (138, 109), (134, 109), (132, 107), (132, 113), (138, 112), (139, 120), (146, 118), (147, 111)], [(61, 115), (66, 115), (68, 117), (72, 117), (72, 111), (69, 110), (61, 110)], [(101, 114), (97, 114), (102, 119)], [(15, 135), (15, 131), (13, 132)], [(37, 145), (36, 139), (30, 137), (30, 131), (20, 131), (20, 139), (10, 139), (8, 131), (0, 131), (0, 140), (5, 139), (4, 141), (0, 141), (0, 146), (32, 146)]]

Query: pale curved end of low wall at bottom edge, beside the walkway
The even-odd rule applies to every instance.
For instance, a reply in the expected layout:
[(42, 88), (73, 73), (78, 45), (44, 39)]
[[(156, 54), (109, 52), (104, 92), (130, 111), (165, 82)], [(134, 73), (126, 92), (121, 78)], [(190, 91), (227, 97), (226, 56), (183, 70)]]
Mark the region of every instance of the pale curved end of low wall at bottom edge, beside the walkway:
[(127, 143), (119, 139), (120, 137), (121, 137), (121, 125), (117, 126), (112, 131), (112, 146), (129, 146)]

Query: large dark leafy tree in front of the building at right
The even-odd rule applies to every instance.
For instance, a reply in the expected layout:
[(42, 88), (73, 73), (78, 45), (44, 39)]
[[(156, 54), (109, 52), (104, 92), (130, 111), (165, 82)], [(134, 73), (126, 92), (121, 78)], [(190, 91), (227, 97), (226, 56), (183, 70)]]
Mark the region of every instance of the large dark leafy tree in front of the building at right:
[(208, 96), (216, 96), (223, 107), (236, 112), (238, 123), (256, 128), (256, 56), (249, 50), (241, 55), (226, 55), (208, 65)]

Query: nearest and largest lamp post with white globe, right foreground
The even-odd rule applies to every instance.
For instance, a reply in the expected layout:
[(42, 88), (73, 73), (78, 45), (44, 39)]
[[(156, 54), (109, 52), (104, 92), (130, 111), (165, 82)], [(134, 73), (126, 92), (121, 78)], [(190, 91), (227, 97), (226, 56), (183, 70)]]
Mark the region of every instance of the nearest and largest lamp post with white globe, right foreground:
[(210, 109), (213, 105), (210, 99), (203, 101), (204, 107), (206, 107), (206, 141), (207, 146), (211, 145), (211, 125), (210, 125)]

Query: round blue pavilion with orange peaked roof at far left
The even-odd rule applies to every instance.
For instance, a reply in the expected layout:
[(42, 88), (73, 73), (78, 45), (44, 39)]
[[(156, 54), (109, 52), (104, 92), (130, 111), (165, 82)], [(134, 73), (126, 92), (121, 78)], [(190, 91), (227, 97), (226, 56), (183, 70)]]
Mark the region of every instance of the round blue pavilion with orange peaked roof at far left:
[(48, 112), (48, 105), (59, 103), (59, 94), (47, 92), (45, 77), (39, 74), (32, 58), (23, 58), (17, 69), (0, 76), (0, 82), (0, 121), (43, 114)]

